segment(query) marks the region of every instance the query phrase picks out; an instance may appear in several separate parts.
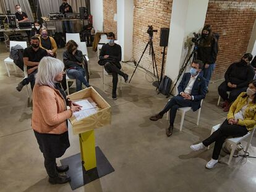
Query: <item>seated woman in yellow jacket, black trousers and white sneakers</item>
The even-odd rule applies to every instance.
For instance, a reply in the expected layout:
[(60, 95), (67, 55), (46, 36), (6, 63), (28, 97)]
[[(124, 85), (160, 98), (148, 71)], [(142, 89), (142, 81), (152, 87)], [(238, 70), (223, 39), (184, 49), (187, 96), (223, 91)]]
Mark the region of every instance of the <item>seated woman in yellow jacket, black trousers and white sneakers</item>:
[(253, 80), (245, 92), (242, 92), (229, 109), (228, 118), (222, 123), (220, 128), (213, 132), (210, 137), (202, 143), (190, 146), (194, 151), (205, 149), (215, 142), (213, 156), (206, 164), (208, 169), (213, 168), (218, 163), (218, 157), (222, 145), (229, 136), (244, 136), (256, 125), (256, 80)]

